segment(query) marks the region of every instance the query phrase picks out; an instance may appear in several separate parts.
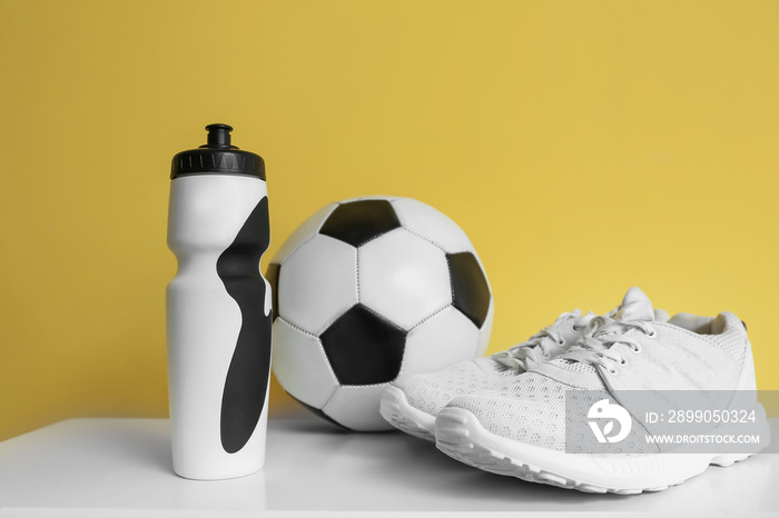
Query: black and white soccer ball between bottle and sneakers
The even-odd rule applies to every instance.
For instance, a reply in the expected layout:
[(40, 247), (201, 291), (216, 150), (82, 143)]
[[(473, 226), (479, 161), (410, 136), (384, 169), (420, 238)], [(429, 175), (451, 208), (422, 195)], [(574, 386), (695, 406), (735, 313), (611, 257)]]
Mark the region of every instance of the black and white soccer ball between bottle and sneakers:
[(388, 430), (382, 391), (402, 373), (484, 353), (493, 300), (465, 232), (411, 198), (331, 203), (282, 245), (273, 288), (273, 370), (316, 415)]

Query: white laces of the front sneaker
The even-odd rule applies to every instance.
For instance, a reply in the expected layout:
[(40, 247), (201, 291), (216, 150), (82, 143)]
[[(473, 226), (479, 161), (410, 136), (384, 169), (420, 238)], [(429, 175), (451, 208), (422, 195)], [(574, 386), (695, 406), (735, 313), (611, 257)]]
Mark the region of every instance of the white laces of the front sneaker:
[(576, 361), (592, 366), (601, 366), (609, 373), (617, 373), (618, 365), (627, 365), (628, 360), (612, 348), (615, 343), (624, 343), (633, 352), (641, 352), (641, 343), (630, 335), (638, 329), (649, 337), (655, 335), (650, 322), (643, 320), (612, 320), (610, 317), (595, 317), (590, 322), (591, 332), (579, 338), (576, 349), (588, 351), (576, 358)]

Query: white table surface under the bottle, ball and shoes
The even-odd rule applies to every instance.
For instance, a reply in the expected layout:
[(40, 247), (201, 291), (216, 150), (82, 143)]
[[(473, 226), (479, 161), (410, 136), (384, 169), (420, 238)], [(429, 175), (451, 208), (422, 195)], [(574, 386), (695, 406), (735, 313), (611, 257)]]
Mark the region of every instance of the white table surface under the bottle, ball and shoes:
[[(779, 437), (779, 420), (771, 425)], [(401, 432), (349, 434), (307, 415), (270, 419), (263, 471), (225, 481), (174, 475), (165, 419), (71, 419), (0, 442), (0, 517), (752, 516), (779, 514), (778, 482), (779, 455), (761, 454), (657, 494), (589, 495), (487, 474)]]

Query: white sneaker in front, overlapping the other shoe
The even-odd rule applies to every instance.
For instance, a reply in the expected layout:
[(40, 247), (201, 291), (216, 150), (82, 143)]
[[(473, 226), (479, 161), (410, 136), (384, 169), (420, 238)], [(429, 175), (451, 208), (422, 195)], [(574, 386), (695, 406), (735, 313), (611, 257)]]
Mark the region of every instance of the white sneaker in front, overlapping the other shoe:
[[(436, 419), (438, 449), (495, 474), (581, 491), (630, 495), (665, 489), (702, 472), (709, 465), (729, 466), (768, 446), (765, 410), (755, 399), (751, 346), (743, 323), (734, 315), (722, 312), (711, 318), (680, 313), (668, 322), (658, 321), (647, 296), (631, 288), (614, 319), (598, 317), (593, 326), (592, 335), (556, 359), (539, 363), (497, 388), (452, 399)], [(579, 395), (607, 394), (618, 404), (605, 399), (581, 407), (589, 408), (589, 412), (581, 411), (572, 419), (565, 407), (566, 391), (570, 397), (572, 390), (579, 390)], [(660, 390), (687, 390), (682, 394), (689, 395), (730, 391), (727, 401), (733, 399), (734, 390), (750, 391), (755, 396), (750, 405), (756, 410), (760, 445), (739, 454), (722, 454), (721, 448), (716, 454), (680, 454), (673, 452), (679, 451), (676, 446), (648, 445), (645, 432), (654, 425), (642, 421), (644, 415), (637, 412), (637, 400), (625, 399), (625, 395)], [(671, 408), (677, 404), (673, 398), (665, 402)], [(609, 454), (566, 452), (585, 439), (594, 442), (586, 437), (590, 430), (584, 427), (585, 432), (568, 436), (575, 439), (568, 439), (566, 445), (566, 427), (598, 419), (593, 411), (603, 405), (622, 407), (619, 411), (625, 412), (628, 422), (617, 417), (619, 435), (625, 425), (625, 434), (630, 432), (633, 424), (635, 435), (630, 437), (640, 436), (643, 449), (631, 449), (640, 441), (635, 439), (604, 445), (613, 446), (607, 450)], [(717, 426), (720, 428), (707, 430), (719, 432), (724, 427)], [(595, 425), (590, 427), (596, 436)], [(603, 434), (612, 427), (613, 421)]]

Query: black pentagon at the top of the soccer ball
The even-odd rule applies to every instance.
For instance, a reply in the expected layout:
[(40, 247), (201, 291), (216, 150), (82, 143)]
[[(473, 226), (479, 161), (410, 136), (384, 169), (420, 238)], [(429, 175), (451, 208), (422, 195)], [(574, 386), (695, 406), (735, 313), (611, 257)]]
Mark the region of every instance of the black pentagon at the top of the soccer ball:
[(357, 200), (336, 207), (319, 233), (359, 247), (400, 226), (401, 221), (389, 201)]

